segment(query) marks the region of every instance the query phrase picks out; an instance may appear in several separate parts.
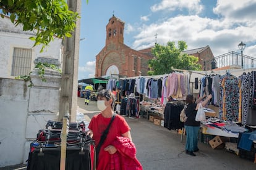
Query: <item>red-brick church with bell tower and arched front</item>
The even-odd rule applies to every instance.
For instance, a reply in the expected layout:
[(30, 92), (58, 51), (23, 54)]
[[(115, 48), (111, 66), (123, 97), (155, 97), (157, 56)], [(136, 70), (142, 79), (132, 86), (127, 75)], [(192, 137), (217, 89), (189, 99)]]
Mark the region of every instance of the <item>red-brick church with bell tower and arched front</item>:
[[(124, 44), (124, 22), (114, 15), (106, 25), (106, 44), (96, 55), (95, 77), (101, 76), (146, 76), (148, 60), (153, 59), (151, 49), (135, 51)], [(213, 54), (209, 46), (184, 51), (200, 60), (211, 60)]]

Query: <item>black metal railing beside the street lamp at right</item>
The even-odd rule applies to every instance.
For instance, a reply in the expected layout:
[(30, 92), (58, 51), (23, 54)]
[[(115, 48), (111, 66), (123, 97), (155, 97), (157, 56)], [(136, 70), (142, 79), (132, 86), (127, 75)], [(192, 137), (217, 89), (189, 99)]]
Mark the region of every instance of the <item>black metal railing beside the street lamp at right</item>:
[(213, 60), (207, 60), (198, 63), (202, 65), (203, 71), (227, 66), (237, 66), (242, 68), (242, 57), (244, 61), (244, 68), (256, 67), (256, 58), (244, 54), (241, 56), (240, 53), (234, 51), (218, 55), (214, 57)]

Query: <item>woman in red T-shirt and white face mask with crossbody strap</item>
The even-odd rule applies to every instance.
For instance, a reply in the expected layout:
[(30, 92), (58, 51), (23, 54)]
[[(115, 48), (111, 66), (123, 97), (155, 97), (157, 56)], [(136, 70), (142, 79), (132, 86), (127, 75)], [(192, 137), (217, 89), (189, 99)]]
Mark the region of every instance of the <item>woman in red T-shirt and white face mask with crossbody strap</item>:
[(93, 116), (87, 132), (95, 140), (96, 169), (142, 169), (135, 156), (130, 127), (124, 117), (113, 111), (113, 93), (103, 89), (98, 92), (97, 99), (101, 113)]

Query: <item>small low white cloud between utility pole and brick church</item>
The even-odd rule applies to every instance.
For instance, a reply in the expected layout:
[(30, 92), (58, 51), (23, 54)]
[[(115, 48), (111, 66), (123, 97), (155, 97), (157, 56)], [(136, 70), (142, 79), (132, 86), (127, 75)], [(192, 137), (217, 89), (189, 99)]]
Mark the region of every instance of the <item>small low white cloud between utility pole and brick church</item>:
[(85, 63), (83, 67), (79, 66), (79, 79), (93, 78), (95, 75), (95, 61)]

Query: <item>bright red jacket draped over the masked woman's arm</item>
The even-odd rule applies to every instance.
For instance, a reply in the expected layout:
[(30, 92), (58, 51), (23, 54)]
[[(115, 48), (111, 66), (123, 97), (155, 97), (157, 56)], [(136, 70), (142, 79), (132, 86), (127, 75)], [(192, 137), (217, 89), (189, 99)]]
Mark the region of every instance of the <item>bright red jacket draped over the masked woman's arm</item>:
[(142, 170), (142, 164), (136, 158), (136, 148), (127, 137), (116, 137), (113, 144), (117, 152), (111, 155), (109, 169)]

